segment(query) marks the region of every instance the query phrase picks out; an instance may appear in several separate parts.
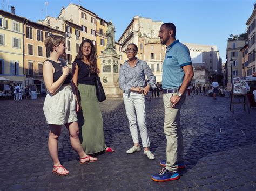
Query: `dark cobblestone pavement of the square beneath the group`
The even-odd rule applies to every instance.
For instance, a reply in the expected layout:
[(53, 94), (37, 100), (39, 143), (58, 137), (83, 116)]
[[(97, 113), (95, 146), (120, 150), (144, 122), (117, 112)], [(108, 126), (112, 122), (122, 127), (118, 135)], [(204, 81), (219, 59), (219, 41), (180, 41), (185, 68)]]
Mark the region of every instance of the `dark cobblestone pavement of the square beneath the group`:
[(47, 148), (48, 125), (43, 114), (44, 99), (0, 101), (0, 190), (255, 190), (256, 108), (251, 114), (230, 99), (203, 95), (187, 96), (181, 110), (186, 169), (176, 181), (158, 183), (151, 175), (165, 159), (163, 98), (146, 102), (151, 150), (156, 160), (143, 151), (126, 154), (132, 146), (122, 100), (100, 103), (107, 146), (114, 153), (99, 161), (80, 165), (63, 128), (59, 157), (70, 175), (51, 173)]

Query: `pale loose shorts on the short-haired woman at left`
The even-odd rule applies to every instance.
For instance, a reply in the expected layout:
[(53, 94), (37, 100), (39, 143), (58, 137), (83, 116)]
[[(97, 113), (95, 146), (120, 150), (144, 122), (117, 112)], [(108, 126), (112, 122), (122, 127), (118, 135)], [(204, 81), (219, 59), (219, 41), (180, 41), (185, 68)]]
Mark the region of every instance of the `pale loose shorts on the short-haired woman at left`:
[(76, 100), (70, 85), (62, 86), (56, 94), (47, 94), (44, 101), (47, 124), (65, 125), (76, 122)]

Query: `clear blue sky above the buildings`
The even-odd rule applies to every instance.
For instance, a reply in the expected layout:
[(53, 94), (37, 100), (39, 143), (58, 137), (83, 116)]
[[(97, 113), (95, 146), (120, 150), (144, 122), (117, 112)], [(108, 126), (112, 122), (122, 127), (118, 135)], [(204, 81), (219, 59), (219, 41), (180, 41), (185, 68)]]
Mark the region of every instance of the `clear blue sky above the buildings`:
[[(47, 9), (45, 2), (48, 2)], [(116, 26), (116, 41), (135, 15), (177, 27), (176, 38), (184, 43), (217, 45), (226, 61), (230, 34), (246, 32), (254, 0), (1, 0), (1, 9), (15, 6), (18, 16), (36, 22), (47, 15), (58, 17), (62, 6), (79, 4)]]

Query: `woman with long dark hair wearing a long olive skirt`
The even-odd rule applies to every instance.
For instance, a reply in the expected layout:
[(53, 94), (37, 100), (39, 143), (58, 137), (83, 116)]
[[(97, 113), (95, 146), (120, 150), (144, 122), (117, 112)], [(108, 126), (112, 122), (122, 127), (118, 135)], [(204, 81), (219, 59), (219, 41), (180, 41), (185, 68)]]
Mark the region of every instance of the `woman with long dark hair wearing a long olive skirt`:
[(114, 152), (105, 144), (102, 112), (96, 95), (95, 80), (98, 75), (97, 53), (92, 41), (85, 39), (72, 65), (73, 82), (78, 88), (80, 112), (78, 124), (80, 142), (86, 154)]

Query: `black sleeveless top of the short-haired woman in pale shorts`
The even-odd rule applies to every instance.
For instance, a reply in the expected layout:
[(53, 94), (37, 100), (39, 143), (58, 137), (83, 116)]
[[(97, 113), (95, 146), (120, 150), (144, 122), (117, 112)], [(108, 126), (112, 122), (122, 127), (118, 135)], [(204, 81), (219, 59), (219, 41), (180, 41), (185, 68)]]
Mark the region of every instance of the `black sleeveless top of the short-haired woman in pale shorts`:
[[(62, 74), (63, 74), (62, 67), (66, 66), (65, 61), (62, 59), (59, 59), (60, 63), (57, 63), (52, 60), (45, 60), (45, 61), (51, 62), (52, 66), (55, 70), (55, 72), (53, 73), (53, 82), (56, 82), (60, 78), (60, 76), (62, 76)], [(69, 75), (66, 77), (65, 81), (63, 82), (63, 85), (71, 83), (70, 82), (71, 80), (72, 80), (72, 75), (69, 73)]]

